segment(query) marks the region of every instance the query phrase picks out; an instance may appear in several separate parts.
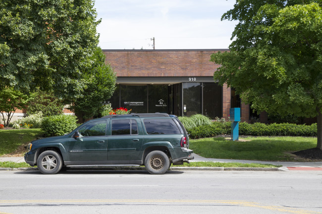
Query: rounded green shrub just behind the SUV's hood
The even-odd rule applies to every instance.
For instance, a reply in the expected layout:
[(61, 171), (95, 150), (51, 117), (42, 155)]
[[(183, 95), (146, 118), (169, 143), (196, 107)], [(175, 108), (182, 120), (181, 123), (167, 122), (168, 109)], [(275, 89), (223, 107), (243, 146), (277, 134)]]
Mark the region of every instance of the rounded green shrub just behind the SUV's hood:
[(42, 131), (45, 136), (59, 136), (68, 133), (77, 127), (76, 116), (72, 115), (55, 115), (44, 117), (42, 121)]

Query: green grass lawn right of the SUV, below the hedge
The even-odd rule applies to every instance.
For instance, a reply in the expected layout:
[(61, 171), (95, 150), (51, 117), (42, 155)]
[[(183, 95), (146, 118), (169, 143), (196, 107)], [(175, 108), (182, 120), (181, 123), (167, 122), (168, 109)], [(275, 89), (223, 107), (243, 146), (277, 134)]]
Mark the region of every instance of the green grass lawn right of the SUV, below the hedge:
[(301, 161), (292, 152), (315, 148), (316, 137), (248, 137), (231, 141), (222, 137), (190, 140), (194, 153), (215, 159)]

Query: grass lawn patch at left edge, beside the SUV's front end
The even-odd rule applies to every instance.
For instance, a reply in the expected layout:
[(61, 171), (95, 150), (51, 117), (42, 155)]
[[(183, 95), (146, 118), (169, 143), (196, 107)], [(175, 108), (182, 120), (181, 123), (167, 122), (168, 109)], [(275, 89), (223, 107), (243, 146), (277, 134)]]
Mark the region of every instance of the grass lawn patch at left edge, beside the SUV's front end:
[(38, 129), (0, 129), (0, 156), (10, 154), (21, 145), (40, 137), (42, 131)]

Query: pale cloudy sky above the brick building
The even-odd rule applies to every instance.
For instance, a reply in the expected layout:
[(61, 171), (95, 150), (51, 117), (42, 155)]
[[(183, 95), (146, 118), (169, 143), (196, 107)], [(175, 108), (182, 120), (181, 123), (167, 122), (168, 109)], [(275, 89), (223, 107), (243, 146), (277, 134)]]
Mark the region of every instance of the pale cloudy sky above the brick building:
[(101, 49), (227, 49), (235, 0), (95, 0)]

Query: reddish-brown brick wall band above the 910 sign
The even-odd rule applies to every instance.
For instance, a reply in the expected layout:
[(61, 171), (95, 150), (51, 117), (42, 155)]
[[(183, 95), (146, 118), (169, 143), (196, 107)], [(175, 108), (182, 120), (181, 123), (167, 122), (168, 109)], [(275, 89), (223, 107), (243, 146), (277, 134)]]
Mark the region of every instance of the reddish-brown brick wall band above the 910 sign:
[(227, 50), (103, 50), (118, 77), (213, 76), (210, 55)]

